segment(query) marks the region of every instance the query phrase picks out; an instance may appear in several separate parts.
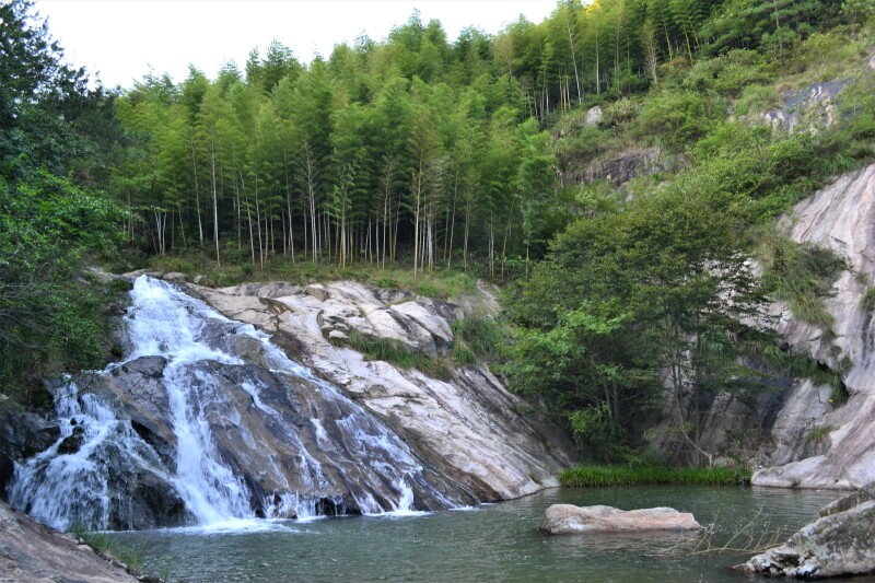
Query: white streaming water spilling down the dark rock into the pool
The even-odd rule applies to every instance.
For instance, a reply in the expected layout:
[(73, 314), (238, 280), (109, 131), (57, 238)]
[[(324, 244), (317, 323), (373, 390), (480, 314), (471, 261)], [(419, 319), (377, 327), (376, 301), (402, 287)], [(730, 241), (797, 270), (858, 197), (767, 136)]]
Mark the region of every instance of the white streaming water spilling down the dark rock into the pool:
[[(164, 415), (176, 441), (175, 467), (162, 468), (154, 450), (131, 430), (130, 421), (118, 418), (109, 403), (79, 394), (71, 384), (69, 395), (61, 393), (58, 398), (63, 433), (49, 450), (16, 468), (10, 490), (13, 505), (60, 528), (80, 520), (91, 527), (104, 527), (107, 508), (124, 501), (107, 492), (113, 469), (98, 452), (121, 438), (122, 444), (116, 446), (133, 452), (128, 456), (132, 464), (166, 479), (199, 525), (254, 518), (256, 508), (267, 517), (331, 513), (345, 508), (343, 491), (362, 513), (405, 513), (413, 508), (411, 482), (442, 504), (455, 505), (456, 501), (428, 483), (404, 442), (337, 387), (291, 361), (267, 335), (229, 320), (163, 281), (138, 278), (131, 299), (126, 322), (132, 352), (125, 363), (98, 374), (110, 374), (143, 357), (164, 359), (161, 383), (170, 408)], [(272, 381), (275, 400), (265, 398), (264, 381), (259, 381), (259, 374), (266, 374), (264, 369), (259, 374), (249, 373), (252, 362), (246, 364), (246, 359), (236, 355), (235, 340), (242, 337), (261, 347), (258, 364), (268, 369), (271, 378), (284, 380), (285, 390), (300, 392), (290, 398), (307, 422), (290, 421), (288, 411), (270, 405), (276, 403), (278, 381)], [(234, 381), (236, 396), (220, 387), (232, 370), (253, 375)], [(241, 395), (249, 403), (243, 409)], [(265, 441), (262, 428), (246, 427), (244, 415), (269, 425), (273, 441)], [(78, 451), (65, 453), (63, 440), (73, 431), (83, 432), (82, 444)], [(222, 431), (225, 440), (233, 433), (241, 441), (225, 441), (220, 451), (215, 431)], [(302, 441), (301, 431), (308, 432), (310, 446)], [(271, 450), (275, 442), (280, 450)], [(270, 490), (254, 492), (244, 477), (235, 474), (228, 458), (229, 443), (246, 444), (246, 455), (257, 458), (258, 471), (270, 475)], [(238, 468), (240, 459), (235, 464)], [(289, 476), (294, 477), (294, 485)]]

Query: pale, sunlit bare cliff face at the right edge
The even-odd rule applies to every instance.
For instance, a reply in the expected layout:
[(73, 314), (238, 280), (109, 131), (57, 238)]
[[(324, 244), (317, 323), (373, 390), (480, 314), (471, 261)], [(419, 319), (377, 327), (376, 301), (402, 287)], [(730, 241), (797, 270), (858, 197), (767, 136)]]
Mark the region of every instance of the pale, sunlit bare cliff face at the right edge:
[[(779, 331), (795, 349), (842, 371), (850, 398), (835, 406), (829, 387), (794, 383), (772, 428), (777, 444), (772, 462), (781, 466), (758, 471), (754, 483), (862, 487), (875, 479), (875, 323), (873, 312), (862, 303), (875, 283), (875, 165), (842, 176), (796, 205), (791, 236), (833, 249), (848, 269), (836, 281), (835, 295), (826, 301), (835, 317), (835, 338), (794, 319), (780, 305), (775, 306), (781, 316)], [(840, 365), (845, 358), (850, 366)], [(800, 433), (810, 434), (813, 428), (828, 432), (826, 451), (804, 456), (797, 445)]]

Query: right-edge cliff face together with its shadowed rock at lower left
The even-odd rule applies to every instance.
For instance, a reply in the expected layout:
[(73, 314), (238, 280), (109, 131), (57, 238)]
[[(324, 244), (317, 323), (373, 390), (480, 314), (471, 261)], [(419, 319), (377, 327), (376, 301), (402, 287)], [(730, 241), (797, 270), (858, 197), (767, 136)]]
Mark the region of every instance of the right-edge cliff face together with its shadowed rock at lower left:
[(771, 312), (792, 350), (840, 371), (849, 398), (836, 403), (832, 387), (807, 378), (781, 380), (752, 407), (721, 396), (702, 446), (766, 466), (755, 485), (859, 488), (875, 479), (875, 323), (862, 303), (875, 284), (875, 165), (797, 203), (785, 228), (795, 242), (829, 247), (847, 263), (825, 301), (831, 333), (794, 318), (785, 304)]

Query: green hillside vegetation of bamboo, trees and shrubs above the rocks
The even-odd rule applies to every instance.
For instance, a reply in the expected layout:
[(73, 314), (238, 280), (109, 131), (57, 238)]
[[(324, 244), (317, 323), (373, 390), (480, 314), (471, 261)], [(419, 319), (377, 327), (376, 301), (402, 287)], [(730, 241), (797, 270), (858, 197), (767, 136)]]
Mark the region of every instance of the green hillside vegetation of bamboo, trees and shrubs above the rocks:
[[(705, 463), (715, 395), (828, 376), (766, 306), (828, 335), (844, 266), (773, 224), (873, 159), (871, 2), (561, 0), (452, 42), (415, 13), (310, 63), (273, 42), (114, 91), (63, 65), (28, 2), (2, 10), (21, 48), (0, 54), (5, 393), (105, 357), (95, 261), (432, 298), (488, 279), (504, 320), (458, 324), (450, 359), (491, 360), (597, 459), (670, 410), (662, 438)], [(836, 107), (800, 105), (825, 82)]]

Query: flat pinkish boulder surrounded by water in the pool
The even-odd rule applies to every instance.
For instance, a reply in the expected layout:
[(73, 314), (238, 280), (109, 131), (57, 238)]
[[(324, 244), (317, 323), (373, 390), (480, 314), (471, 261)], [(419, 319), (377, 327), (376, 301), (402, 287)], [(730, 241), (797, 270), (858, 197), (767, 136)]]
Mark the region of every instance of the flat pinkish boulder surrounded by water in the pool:
[(650, 530), (698, 530), (689, 512), (669, 508), (622, 511), (612, 506), (552, 504), (544, 513), (540, 530), (548, 535), (591, 533), (645, 533)]

